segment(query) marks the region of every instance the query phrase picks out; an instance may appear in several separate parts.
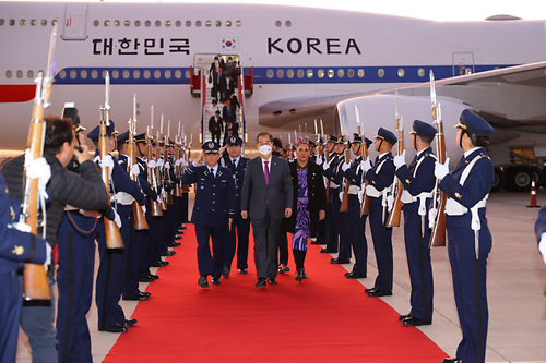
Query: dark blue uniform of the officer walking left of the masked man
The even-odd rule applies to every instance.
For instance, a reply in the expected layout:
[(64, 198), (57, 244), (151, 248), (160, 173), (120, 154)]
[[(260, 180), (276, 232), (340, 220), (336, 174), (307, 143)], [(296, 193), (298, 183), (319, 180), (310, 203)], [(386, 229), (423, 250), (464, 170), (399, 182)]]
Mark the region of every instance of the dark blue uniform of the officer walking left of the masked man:
[(227, 231), (224, 249), (224, 266), (230, 268), (237, 246), (237, 268), (248, 268), (248, 238), (250, 234), (250, 218), (242, 219), (240, 215), (240, 202), (242, 182), (247, 170), (248, 158), (239, 156), (234, 164), (229, 157), (224, 157), (222, 164), (232, 171), (235, 184), (235, 219), (232, 230)]

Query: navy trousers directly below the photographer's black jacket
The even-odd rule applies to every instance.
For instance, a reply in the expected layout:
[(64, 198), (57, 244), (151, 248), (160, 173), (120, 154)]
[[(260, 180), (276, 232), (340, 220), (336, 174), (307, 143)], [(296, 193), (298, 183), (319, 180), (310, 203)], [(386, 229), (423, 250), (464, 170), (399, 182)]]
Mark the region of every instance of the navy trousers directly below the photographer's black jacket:
[[(57, 235), (57, 338), (60, 362), (93, 362), (86, 315), (93, 300), (97, 218), (66, 213)], [(76, 229), (78, 228), (78, 229)]]

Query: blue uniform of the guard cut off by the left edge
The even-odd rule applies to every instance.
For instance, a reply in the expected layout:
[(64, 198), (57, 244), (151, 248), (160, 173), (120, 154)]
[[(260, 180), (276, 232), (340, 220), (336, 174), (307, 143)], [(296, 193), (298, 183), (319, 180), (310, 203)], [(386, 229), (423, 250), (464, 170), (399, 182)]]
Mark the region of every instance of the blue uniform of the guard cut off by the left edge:
[(46, 241), (41, 238), (9, 228), (19, 218), (21, 203), (11, 201), (0, 176), (0, 356), (2, 362), (15, 362), (22, 292), (17, 270), (24, 262), (44, 264)]

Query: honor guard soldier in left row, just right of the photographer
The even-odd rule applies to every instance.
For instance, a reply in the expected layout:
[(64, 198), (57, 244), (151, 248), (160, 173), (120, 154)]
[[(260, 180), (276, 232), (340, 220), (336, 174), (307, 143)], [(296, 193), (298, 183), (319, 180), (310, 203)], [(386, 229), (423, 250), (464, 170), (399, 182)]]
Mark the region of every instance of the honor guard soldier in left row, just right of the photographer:
[[(116, 158), (110, 154), (116, 148), (116, 135), (114, 121), (109, 121), (106, 128), (108, 136), (108, 155), (100, 160), (98, 148), (95, 152), (95, 161), (111, 171), (110, 187), (112, 193), (112, 206), (121, 219), (121, 239), (123, 244), (130, 245), (131, 229), (134, 223), (132, 219), (131, 204), (134, 199), (141, 205), (145, 205), (145, 197), (142, 194), (139, 184), (133, 182), (123, 169), (119, 166)], [(95, 147), (98, 147), (99, 126), (93, 129), (87, 137), (93, 141)], [(145, 206), (143, 207), (143, 209)], [(145, 213), (145, 211), (144, 211)], [(123, 310), (119, 305), (119, 298), (123, 292), (123, 276), (127, 267), (127, 256), (123, 250), (106, 247), (106, 235), (104, 222), (99, 223), (97, 231), (98, 252), (100, 265), (98, 266), (96, 282), (96, 303), (98, 311), (98, 330), (108, 332), (127, 331), (128, 327), (134, 325), (136, 319), (126, 319)], [(143, 297), (146, 293), (143, 293)], [(147, 299), (147, 298), (143, 298)]]

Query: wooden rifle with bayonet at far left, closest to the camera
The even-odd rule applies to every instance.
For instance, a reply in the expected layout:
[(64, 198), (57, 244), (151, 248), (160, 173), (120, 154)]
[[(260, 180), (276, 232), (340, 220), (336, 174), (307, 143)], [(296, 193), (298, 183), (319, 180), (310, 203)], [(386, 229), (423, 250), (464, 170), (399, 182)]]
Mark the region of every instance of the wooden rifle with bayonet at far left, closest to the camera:
[[(57, 24), (51, 31), (47, 75), (44, 78), (44, 72), (40, 71), (36, 78), (36, 96), (34, 97), (33, 116), (27, 142), (28, 153), (25, 164), (41, 157), (44, 154), (44, 138), (46, 133), (44, 109), (49, 107), (49, 98), (51, 96), (51, 85), (55, 77), (56, 43)], [(31, 227), (31, 233), (38, 234), (38, 179), (27, 178), (26, 167), (25, 170), (23, 170), (23, 190), (25, 194), (19, 221), (20, 223), (28, 225)], [(43, 204), (41, 207), (45, 209), (45, 204)], [(43, 264), (25, 263), (25, 269), (23, 270), (23, 299), (25, 301), (51, 301), (51, 291), (49, 290), (49, 282)]]

